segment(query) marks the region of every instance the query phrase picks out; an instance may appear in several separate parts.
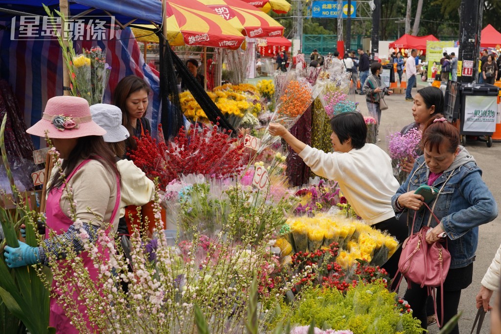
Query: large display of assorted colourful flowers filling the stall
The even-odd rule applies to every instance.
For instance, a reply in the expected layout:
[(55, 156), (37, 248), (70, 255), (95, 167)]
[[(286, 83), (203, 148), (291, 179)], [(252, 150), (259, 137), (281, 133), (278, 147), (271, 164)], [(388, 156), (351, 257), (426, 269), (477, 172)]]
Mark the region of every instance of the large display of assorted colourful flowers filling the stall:
[[(89, 67), (81, 61), (74, 66)], [(99, 69), (104, 79), (106, 68)], [(129, 154), (155, 182), (149, 233), (133, 224), (129, 237), (104, 229), (90, 235), (76, 222), (78, 242), (99, 270), (97, 281), (88, 279), (79, 251), (68, 244), (65, 263), (71, 266), (51, 257), (49, 267), (21, 271), (0, 260), (0, 297), (33, 302), (23, 292), (29, 286), (44, 303), (54, 292), (51, 277), (64, 278), (68, 284), (58, 289), (67, 293), (58, 303), (81, 333), (420, 333), (410, 306), (389, 291), (384, 263), (399, 247), (396, 239), (363, 221), (335, 180), (308, 177), (293, 186), (291, 152), (267, 131), (270, 121), (294, 127), (314, 105), (315, 131), (325, 133), (330, 117), (356, 110), (344, 74), (336, 71), (289, 72), (257, 86), (214, 88), (209, 96), (239, 128), (235, 134), (210, 123), (182, 93), (182, 111), (192, 124), (168, 142), (145, 134)], [(99, 82), (77, 88), (99, 96)], [(27, 240), (40, 244), (37, 227), (45, 217), (21, 204), (15, 210), (24, 217)], [(3, 208), (0, 218), (11, 244), (21, 223)], [(70, 269), (75, 274), (68, 275)], [(12, 279), (19, 273), (23, 281)], [(6, 314), (18, 326), (30, 332), (47, 327), (48, 309), (35, 323), (31, 308), (13, 305)]]

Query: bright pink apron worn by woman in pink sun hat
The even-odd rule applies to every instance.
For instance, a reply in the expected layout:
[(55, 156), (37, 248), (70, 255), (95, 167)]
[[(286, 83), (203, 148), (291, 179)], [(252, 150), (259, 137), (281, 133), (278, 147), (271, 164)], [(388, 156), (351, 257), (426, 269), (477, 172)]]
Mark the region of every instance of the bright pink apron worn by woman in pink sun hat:
[[(91, 161), (90, 159), (84, 160), (75, 170), (71, 172), (71, 174), (66, 178), (66, 181), (68, 182), (72, 176), (80, 169), (82, 168), (86, 163)], [(54, 230), (58, 235), (63, 234), (66, 231), (68, 231), (68, 228), (73, 225), (73, 221), (66, 216), (66, 214), (63, 212), (61, 209), (60, 205), (60, 200), (61, 196), (63, 195), (63, 190), (65, 188), (65, 185), (59, 187), (58, 189), (52, 189), (49, 195), (47, 196), (47, 207), (46, 207), (46, 215), (47, 215), (47, 226), (49, 227), (46, 231), (45, 237), (49, 237), (49, 230)], [(111, 223), (113, 223), (115, 216), (118, 212), (120, 205), (120, 183), (117, 178), (117, 199), (115, 202), (115, 208), (113, 209), (113, 213), (111, 215)], [(110, 226), (111, 227), (111, 226)], [(107, 233), (109, 232), (109, 228), (106, 231)], [(109, 258), (109, 252), (103, 251), (102, 247), (98, 245), (99, 249), (99, 254), (102, 254), (104, 258)], [(94, 267), (94, 263), (91, 260), (91, 258), (88, 256), (88, 252), (81, 252), (79, 255), (83, 259), (84, 266), (87, 268), (89, 271), (89, 275), (93, 280), (97, 280), (98, 274), (99, 274), (99, 269)], [(66, 260), (60, 260), (59, 266), (61, 268), (65, 268), (65, 263)], [(106, 263), (106, 262), (105, 262)], [(65, 268), (66, 272), (68, 275), (72, 275), (71, 269), (68, 270), (68, 268)], [(68, 285), (68, 282), (63, 282), (63, 284)], [(57, 294), (61, 294), (61, 290), (56, 288), (56, 281), (53, 280), (52, 282), (52, 289), (53, 292)], [(59, 291), (58, 291), (59, 290)], [(75, 300), (76, 303), (79, 304), (79, 311), (84, 314), (84, 310), (86, 309), (85, 305), (83, 305), (81, 302), (77, 301), (77, 295), (78, 291), (76, 287), (70, 287), (70, 291), (73, 292), (73, 299)], [(87, 316), (84, 315), (84, 318), (86, 320)], [(56, 333), (59, 334), (78, 334), (78, 330), (70, 323), (70, 319), (65, 315), (65, 311), (61, 305), (59, 305), (54, 297), (51, 297), (50, 300), (50, 315), (49, 315), (49, 325), (51, 327), (56, 328)], [(87, 324), (87, 327), (90, 328), (90, 324)]]

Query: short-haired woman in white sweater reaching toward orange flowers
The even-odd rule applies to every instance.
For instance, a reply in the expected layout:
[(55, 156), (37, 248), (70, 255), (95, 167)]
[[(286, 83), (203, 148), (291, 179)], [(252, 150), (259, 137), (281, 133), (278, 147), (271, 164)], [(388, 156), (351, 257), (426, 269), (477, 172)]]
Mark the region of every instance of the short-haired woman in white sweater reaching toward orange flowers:
[[(391, 197), (399, 184), (391, 159), (381, 148), (366, 144), (367, 126), (360, 113), (348, 112), (331, 120), (334, 153), (325, 153), (295, 138), (280, 124), (270, 124), (271, 135), (281, 136), (312, 171), (338, 181), (355, 212), (374, 228), (387, 230), (399, 242), (408, 236), (405, 224), (395, 218)], [(398, 269), (399, 249), (383, 267), (393, 277)]]

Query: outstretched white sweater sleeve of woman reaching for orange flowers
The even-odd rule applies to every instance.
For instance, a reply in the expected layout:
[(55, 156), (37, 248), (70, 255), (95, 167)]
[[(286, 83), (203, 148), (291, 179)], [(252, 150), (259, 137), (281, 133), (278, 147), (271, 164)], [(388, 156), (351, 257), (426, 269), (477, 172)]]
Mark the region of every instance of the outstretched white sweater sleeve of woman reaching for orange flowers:
[(329, 180), (341, 180), (343, 177), (343, 159), (339, 153), (325, 153), (307, 145), (299, 156), (311, 170)]

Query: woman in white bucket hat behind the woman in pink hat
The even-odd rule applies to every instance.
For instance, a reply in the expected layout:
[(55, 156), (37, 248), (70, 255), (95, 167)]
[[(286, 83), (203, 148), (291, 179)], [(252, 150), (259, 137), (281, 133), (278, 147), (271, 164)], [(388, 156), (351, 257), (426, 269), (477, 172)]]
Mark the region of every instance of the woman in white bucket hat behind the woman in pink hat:
[(95, 104), (91, 106), (92, 120), (106, 130), (103, 139), (115, 153), (117, 168), (122, 176), (122, 188), (120, 201), (120, 221), (118, 222), (118, 234), (128, 235), (127, 223), (123, 219), (127, 205), (142, 206), (151, 200), (154, 184), (146, 177), (130, 160), (122, 159), (125, 154), (125, 140), (129, 137), (129, 131), (122, 125), (122, 111), (110, 104)]

